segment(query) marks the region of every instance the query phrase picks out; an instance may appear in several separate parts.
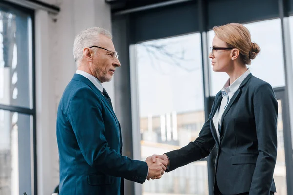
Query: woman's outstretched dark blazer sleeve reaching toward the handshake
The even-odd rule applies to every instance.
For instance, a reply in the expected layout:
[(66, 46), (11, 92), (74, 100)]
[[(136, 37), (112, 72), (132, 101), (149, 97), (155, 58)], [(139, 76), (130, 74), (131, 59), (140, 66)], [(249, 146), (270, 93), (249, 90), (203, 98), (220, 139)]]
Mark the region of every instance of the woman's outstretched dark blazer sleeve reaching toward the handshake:
[(173, 150), (171, 152), (165, 153), (168, 158), (170, 165), (167, 167), (166, 172), (173, 171), (178, 167), (182, 167), (196, 160), (200, 160), (209, 156), (210, 151), (215, 146), (215, 140), (212, 136), (210, 129), (210, 121), (212, 120), (212, 113), (214, 111), (215, 102), (217, 102), (216, 96), (208, 120), (204, 123), (197, 139), (193, 142), (190, 142), (187, 146), (180, 148), (178, 150)]

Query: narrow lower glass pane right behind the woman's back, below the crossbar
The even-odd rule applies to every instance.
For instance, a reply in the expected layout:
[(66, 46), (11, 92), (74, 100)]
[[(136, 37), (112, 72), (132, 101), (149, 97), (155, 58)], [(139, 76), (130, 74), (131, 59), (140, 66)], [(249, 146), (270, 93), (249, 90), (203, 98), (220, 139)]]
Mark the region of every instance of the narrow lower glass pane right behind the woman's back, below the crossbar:
[(283, 119), (282, 119), (282, 101), (278, 100), (278, 156), (273, 178), (277, 187), (275, 195), (287, 195), (286, 185), (286, 165), (285, 165), (285, 150), (284, 150), (284, 134), (283, 134)]

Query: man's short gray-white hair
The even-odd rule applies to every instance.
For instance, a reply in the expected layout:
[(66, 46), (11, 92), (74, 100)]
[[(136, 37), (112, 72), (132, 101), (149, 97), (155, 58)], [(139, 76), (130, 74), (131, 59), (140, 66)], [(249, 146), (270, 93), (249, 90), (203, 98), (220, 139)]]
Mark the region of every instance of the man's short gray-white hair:
[(112, 39), (112, 35), (109, 31), (99, 27), (85, 29), (75, 37), (73, 44), (73, 55), (76, 62), (82, 59), (83, 50), (85, 47), (90, 47), (94, 44), (97, 44), (96, 41), (99, 38), (99, 35), (105, 35), (106, 37)]

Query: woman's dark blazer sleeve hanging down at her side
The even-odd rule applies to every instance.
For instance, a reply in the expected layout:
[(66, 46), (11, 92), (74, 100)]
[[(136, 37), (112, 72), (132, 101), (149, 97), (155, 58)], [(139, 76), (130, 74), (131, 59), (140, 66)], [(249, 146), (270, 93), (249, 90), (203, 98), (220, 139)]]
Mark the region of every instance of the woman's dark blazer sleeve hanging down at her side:
[(269, 195), (277, 159), (278, 102), (268, 83), (259, 86), (253, 97), (258, 140), (258, 158), (253, 173), (250, 195)]

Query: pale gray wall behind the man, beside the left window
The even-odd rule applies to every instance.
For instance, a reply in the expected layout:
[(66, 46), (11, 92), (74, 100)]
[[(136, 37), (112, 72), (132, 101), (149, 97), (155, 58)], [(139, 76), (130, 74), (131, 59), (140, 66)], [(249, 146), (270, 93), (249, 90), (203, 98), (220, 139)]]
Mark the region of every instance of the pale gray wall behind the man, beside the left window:
[[(56, 111), (76, 71), (74, 37), (92, 26), (111, 31), (111, 12), (103, 0), (42, 1), (60, 7), (58, 15), (35, 13), (38, 194), (49, 195), (59, 183)], [(114, 82), (103, 85), (114, 99)]]

